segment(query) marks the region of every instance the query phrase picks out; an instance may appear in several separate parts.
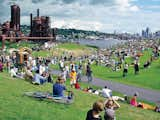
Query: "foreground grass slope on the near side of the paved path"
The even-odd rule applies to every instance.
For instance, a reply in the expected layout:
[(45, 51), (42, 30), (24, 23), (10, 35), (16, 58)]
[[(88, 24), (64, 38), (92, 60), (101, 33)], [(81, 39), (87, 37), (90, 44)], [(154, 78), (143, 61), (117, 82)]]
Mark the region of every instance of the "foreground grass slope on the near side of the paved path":
[[(67, 83), (68, 84), (68, 83)], [(82, 84), (83, 85), (83, 84)], [(87, 86), (87, 85), (83, 85)], [(10, 78), (0, 73), (0, 120), (85, 120), (94, 101), (102, 99), (96, 95), (75, 90), (75, 102), (71, 105), (39, 101), (23, 96), (26, 91), (51, 91), (52, 85), (34, 86), (24, 80)], [(117, 120), (159, 120), (160, 114), (120, 103)]]

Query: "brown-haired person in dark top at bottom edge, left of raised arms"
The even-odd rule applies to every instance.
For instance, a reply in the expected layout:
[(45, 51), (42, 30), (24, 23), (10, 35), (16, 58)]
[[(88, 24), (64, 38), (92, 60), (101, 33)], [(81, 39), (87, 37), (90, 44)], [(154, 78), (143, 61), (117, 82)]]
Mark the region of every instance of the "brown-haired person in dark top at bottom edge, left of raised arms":
[(86, 120), (102, 120), (100, 113), (104, 110), (102, 100), (98, 100), (93, 104), (92, 109), (87, 112)]

